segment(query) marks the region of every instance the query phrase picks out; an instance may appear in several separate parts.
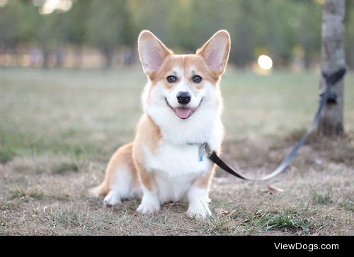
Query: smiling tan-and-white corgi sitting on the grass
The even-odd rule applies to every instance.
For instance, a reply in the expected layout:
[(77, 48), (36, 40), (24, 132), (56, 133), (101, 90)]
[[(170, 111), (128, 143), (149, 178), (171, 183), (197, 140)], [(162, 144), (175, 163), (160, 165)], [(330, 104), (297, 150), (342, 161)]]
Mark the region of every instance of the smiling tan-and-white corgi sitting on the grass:
[(219, 81), (230, 51), (219, 30), (194, 55), (174, 55), (154, 34), (139, 35), (139, 59), (148, 82), (135, 139), (111, 157), (101, 185), (91, 189), (104, 205), (141, 198), (137, 212), (152, 215), (164, 202), (188, 202), (190, 217), (210, 216), (215, 164), (200, 156), (207, 144), (219, 153), (224, 128)]

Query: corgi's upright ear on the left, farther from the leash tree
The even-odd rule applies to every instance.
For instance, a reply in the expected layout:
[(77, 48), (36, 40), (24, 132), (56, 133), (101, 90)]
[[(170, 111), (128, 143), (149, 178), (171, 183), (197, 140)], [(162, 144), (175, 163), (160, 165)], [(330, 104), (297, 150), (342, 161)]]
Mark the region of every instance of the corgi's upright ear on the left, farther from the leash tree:
[(149, 76), (152, 76), (152, 74), (159, 69), (168, 55), (173, 54), (173, 52), (149, 30), (142, 30), (137, 40), (137, 45), (142, 68)]

